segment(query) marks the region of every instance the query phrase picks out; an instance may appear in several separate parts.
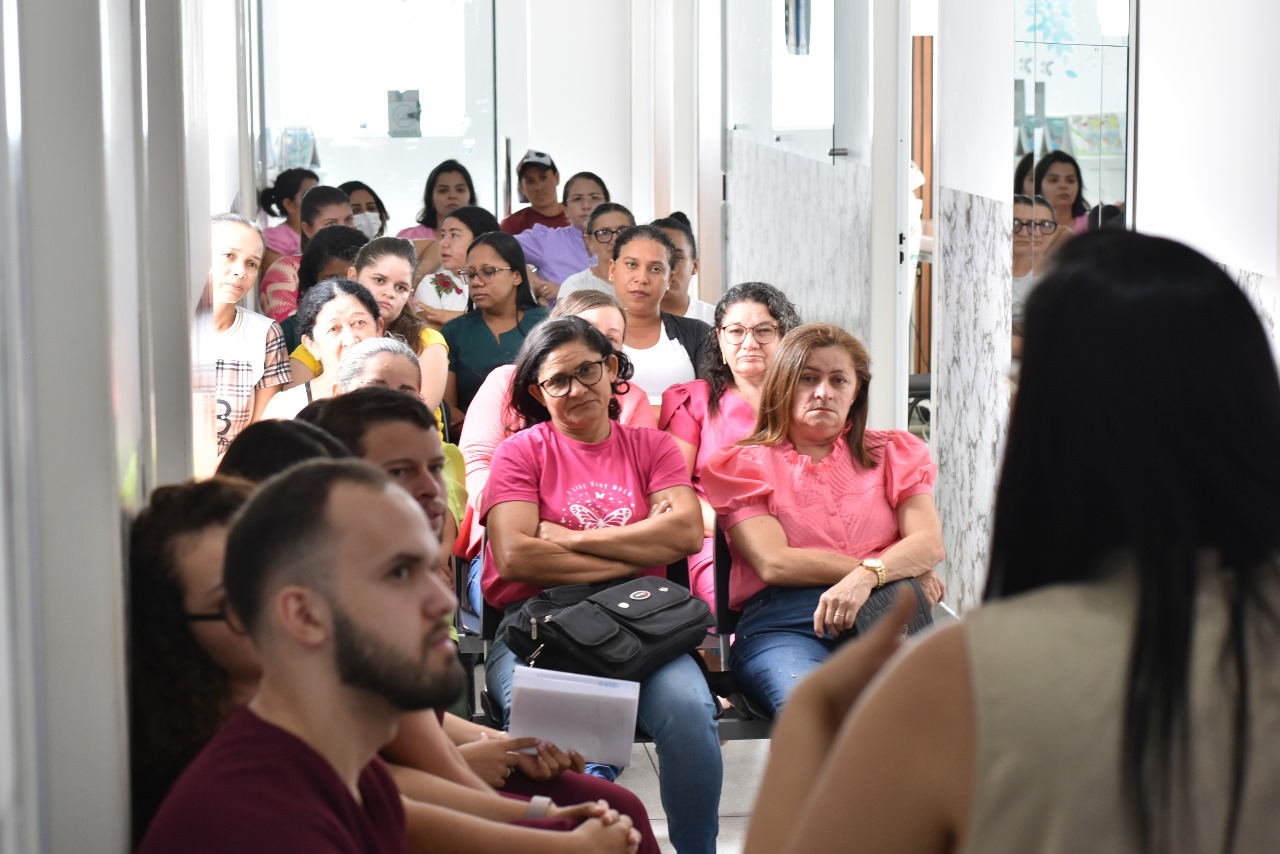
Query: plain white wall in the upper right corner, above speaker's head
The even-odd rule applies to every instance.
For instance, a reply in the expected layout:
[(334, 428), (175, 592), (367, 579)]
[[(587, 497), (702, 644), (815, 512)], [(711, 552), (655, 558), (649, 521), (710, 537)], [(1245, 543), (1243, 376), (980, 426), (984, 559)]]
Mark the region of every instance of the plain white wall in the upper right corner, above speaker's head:
[(1144, 232), (1265, 277), (1280, 251), (1280, 5), (1142, 6), (1135, 214)]

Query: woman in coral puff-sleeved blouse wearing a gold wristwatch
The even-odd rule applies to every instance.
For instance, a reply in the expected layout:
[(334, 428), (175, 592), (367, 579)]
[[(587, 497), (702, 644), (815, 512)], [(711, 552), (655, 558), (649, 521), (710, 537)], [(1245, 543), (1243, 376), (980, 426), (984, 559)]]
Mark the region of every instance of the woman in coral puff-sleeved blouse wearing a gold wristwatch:
[(913, 629), (942, 598), (937, 467), (905, 430), (868, 430), (870, 359), (844, 329), (808, 324), (778, 344), (751, 435), (703, 467), (728, 535), (730, 606), (741, 611), (735, 681), (771, 714), (805, 673), (893, 599)]

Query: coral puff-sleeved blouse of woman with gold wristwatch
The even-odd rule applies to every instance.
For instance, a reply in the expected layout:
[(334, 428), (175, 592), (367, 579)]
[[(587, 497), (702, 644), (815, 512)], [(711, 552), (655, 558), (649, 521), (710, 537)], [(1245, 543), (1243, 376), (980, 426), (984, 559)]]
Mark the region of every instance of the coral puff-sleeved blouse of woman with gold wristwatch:
[(932, 494), (938, 469), (929, 448), (905, 430), (868, 430), (867, 447), (881, 460), (874, 469), (854, 462), (844, 434), (820, 462), (796, 453), (790, 442), (730, 446), (712, 455), (703, 488), (728, 534), (733, 609), (767, 586), (728, 533), (746, 519), (774, 516), (791, 548), (856, 558), (876, 557), (901, 539), (897, 506)]

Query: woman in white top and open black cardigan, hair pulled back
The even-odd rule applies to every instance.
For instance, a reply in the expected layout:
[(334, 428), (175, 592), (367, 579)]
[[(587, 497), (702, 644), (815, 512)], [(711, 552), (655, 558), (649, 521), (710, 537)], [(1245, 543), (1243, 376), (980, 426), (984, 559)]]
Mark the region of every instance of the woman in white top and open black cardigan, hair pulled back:
[(709, 324), (659, 307), (671, 287), (676, 255), (676, 245), (660, 228), (635, 225), (614, 238), (609, 265), (618, 302), (627, 310), (622, 352), (635, 365), (635, 380), (649, 393), (654, 412), (663, 392), (696, 378), (694, 366), (713, 341)]

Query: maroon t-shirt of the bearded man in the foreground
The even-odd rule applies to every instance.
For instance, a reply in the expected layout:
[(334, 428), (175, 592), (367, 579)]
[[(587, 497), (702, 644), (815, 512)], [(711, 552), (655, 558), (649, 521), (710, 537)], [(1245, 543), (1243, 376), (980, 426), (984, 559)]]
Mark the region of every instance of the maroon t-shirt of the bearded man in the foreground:
[(404, 808), (374, 759), (356, 803), (333, 766), (294, 735), (238, 709), (160, 805), (140, 854), (406, 854)]

